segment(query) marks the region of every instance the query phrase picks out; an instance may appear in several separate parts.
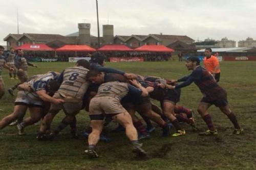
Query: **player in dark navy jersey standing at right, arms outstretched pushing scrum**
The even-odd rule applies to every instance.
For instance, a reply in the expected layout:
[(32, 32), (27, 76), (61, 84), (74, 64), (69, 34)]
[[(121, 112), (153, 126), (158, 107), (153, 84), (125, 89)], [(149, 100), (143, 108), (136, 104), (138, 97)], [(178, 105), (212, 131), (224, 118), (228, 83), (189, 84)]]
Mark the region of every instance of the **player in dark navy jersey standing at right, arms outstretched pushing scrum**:
[(167, 85), (170, 89), (180, 89), (195, 83), (203, 94), (203, 98), (198, 106), (198, 112), (208, 126), (208, 130), (199, 133), (200, 135), (215, 135), (218, 134), (211, 117), (207, 110), (211, 105), (218, 107), (230, 119), (234, 126), (233, 134), (240, 135), (243, 129), (240, 127), (236, 116), (230, 110), (227, 102), (227, 92), (218, 85), (214, 77), (205, 68), (200, 66), (199, 58), (190, 56), (186, 60), (186, 67), (188, 70), (193, 70), (189, 76), (183, 77), (179, 80), (172, 80), (172, 82), (183, 82), (176, 86)]

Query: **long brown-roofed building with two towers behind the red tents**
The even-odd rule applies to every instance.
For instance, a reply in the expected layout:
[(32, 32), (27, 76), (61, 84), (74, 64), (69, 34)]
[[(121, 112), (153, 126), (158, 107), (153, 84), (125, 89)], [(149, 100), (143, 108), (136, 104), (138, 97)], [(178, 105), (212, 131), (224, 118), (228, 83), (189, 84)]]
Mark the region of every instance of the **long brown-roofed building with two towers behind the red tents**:
[(125, 44), (131, 48), (136, 48), (144, 44), (154, 45), (169, 45), (176, 41), (181, 41), (186, 44), (192, 44), (195, 40), (183, 35), (164, 35), (149, 34), (149, 35), (131, 35), (131, 36), (114, 36), (113, 25), (103, 25), (103, 35), (98, 37), (90, 34), (90, 23), (78, 23), (78, 32), (63, 36), (59, 34), (9, 34), (4, 40), (7, 41), (8, 50), (10, 47), (17, 47), (25, 43), (45, 43), (50, 47), (58, 48), (65, 44), (87, 44), (97, 48), (104, 44)]

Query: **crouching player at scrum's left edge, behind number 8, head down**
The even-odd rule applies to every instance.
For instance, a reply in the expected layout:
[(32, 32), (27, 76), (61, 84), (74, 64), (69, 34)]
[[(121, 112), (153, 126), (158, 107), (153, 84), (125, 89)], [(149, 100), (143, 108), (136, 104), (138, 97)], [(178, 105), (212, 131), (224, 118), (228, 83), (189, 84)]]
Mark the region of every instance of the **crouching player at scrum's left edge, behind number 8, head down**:
[(48, 92), (56, 91), (59, 87), (58, 81), (52, 79), (55, 76), (56, 74), (54, 75), (52, 72), (42, 75), (41, 79), (35, 77), (35, 80), (32, 79), (28, 82), (32, 91), (19, 90), (14, 102), (14, 111), (0, 121), (0, 129), (6, 127), (12, 120), (23, 117), (29, 108), (31, 116), (24, 120), (22, 127), (19, 129), (21, 135), (25, 126), (36, 123), (42, 117), (43, 101), (55, 104), (64, 102), (62, 99), (55, 99), (48, 95)]

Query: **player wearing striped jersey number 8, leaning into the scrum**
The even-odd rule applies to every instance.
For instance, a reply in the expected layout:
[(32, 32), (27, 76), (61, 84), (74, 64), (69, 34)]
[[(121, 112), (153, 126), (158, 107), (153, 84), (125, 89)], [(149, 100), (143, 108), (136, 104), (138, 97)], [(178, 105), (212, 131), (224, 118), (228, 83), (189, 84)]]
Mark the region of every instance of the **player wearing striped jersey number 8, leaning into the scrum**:
[(42, 120), (40, 131), (37, 135), (38, 140), (47, 138), (45, 132), (50, 128), (54, 116), (61, 109), (66, 114), (66, 117), (60, 123), (62, 129), (74, 121), (75, 115), (82, 109), (82, 98), (90, 84), (86, 79), (89, 68), (90, 63), (87, 60), (78, 60), (74, 67), (69, 67), (62, 71), (58, 79), (62, 83), (53, 98), (62, 99), (65, 103), (51, 104), (49, 113)]

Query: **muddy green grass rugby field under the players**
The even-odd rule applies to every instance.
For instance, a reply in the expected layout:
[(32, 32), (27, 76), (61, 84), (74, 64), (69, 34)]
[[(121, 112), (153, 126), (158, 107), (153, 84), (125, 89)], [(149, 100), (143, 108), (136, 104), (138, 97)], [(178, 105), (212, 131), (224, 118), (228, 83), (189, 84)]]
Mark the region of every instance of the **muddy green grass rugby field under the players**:
[[(30, 67), (29, 75), (43, 74), (49, 70), (61, 71), (73, 63), (36, 63), (39, 68)], [(106, 66), (134, 72), (140, 75), (160, 76), (177, 79), (190, 72), (184, 62), (122, 62), (107, 63)], [(99, 159), (90, 160), (83, 155), (87, 140), (71, 139), (69, 128), (62, 131), (53, 141), (37, 141), (39, 126), (25, 129), (27, 135), (18, 136), (16, 127), (0, 131), (0, 169), (256, 169), (256, 62), (221, 62), (220, 85), (228, 92), (228, 101), (244, 128), (241, 136), (229, 136), (232, 125), (216, 107), (209, 113), (219, 131), (217, 136), (201, 137), (182, 124), (187, 134), (182, 137), (161, 137), (161, 129), (152, 132), (151, 138), (142, 140), (150, 159), (139, 161), (130, 151), (129, 140), (123, 132), (110, 132), (116, 124), (106, 127), (105, 133), (112, 140), (100, 141), (97, 145)], [(15, 84), (8, 73), (3, 72), (6, 89)], [(182, 89), (180, 105), (196, 110), (202, 94), (195, 84)], [(0, 101), (0, 118), (12, 112), (15, 98), (6, 93)], [(63, 117), (59, 113), (52, 127)], [(203, 131), (206, 125), (195, 115), (198, 127)], [(79, 130), (88, 126), (85, 111), (77, 116)]]

